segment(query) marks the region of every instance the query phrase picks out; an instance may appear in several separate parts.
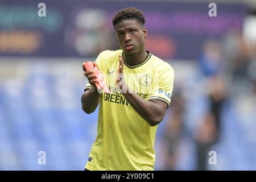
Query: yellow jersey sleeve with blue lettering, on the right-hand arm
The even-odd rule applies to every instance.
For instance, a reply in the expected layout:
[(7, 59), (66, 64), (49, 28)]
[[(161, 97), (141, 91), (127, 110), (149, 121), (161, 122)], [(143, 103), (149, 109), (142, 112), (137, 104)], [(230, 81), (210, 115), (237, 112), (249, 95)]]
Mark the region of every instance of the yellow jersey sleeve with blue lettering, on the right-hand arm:
[(148, 100), (160, 100), (170, 105), (172, 89), (174, 86), (174, 69), (168, 64), (162, 71), (156, 73), (154, 86), (151, 89)]

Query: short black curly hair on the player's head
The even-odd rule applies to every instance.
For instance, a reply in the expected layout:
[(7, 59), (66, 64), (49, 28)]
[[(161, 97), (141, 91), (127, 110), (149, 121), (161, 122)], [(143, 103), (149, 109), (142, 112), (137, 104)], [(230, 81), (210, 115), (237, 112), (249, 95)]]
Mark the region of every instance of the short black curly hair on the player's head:
[(141, 10), (135, 9), (134, 7), (126, 7), (125, 9), (119, 10), (112, 19), (113, 26), (123, 20), (136, 19), (139, 23), (144, 25), (145, 17)]

